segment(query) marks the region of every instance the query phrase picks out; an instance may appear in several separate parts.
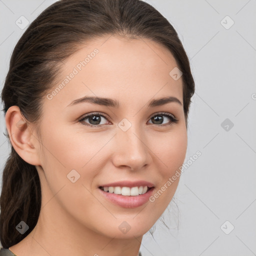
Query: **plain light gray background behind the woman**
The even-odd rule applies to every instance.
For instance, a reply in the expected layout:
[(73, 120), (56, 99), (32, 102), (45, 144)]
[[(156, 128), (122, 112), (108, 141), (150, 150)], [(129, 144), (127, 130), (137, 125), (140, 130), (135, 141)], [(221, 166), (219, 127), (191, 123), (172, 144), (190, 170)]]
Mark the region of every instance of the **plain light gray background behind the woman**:
[[(0, 0), (1, 88), (25, 30), (15, 21), (23, 15), (31, 22), (54, 1)], [(159, 219), (154, 239), (149, 232), (143, 236), (142, 255), (256, 255), (256, 1), (147, 2), (174, 26), (190, 59), (196, 92), (185, 162), (197, 150), (201, 156), (184, 169), (163, 214), (170, 230)], [(0, 114), (2, 175), (10, 146)]]

